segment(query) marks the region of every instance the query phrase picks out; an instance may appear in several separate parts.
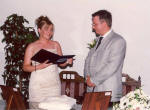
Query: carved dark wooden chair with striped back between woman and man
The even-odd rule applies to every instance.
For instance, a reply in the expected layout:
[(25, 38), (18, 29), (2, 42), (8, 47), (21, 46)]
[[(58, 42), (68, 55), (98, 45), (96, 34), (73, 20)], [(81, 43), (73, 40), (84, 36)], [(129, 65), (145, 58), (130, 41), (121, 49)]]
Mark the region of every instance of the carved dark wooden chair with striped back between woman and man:
[(86, 92), (85, 80), (75, 71), (60, 72), (61, 94), (67, 95), (77, 100), (81, 104)]

